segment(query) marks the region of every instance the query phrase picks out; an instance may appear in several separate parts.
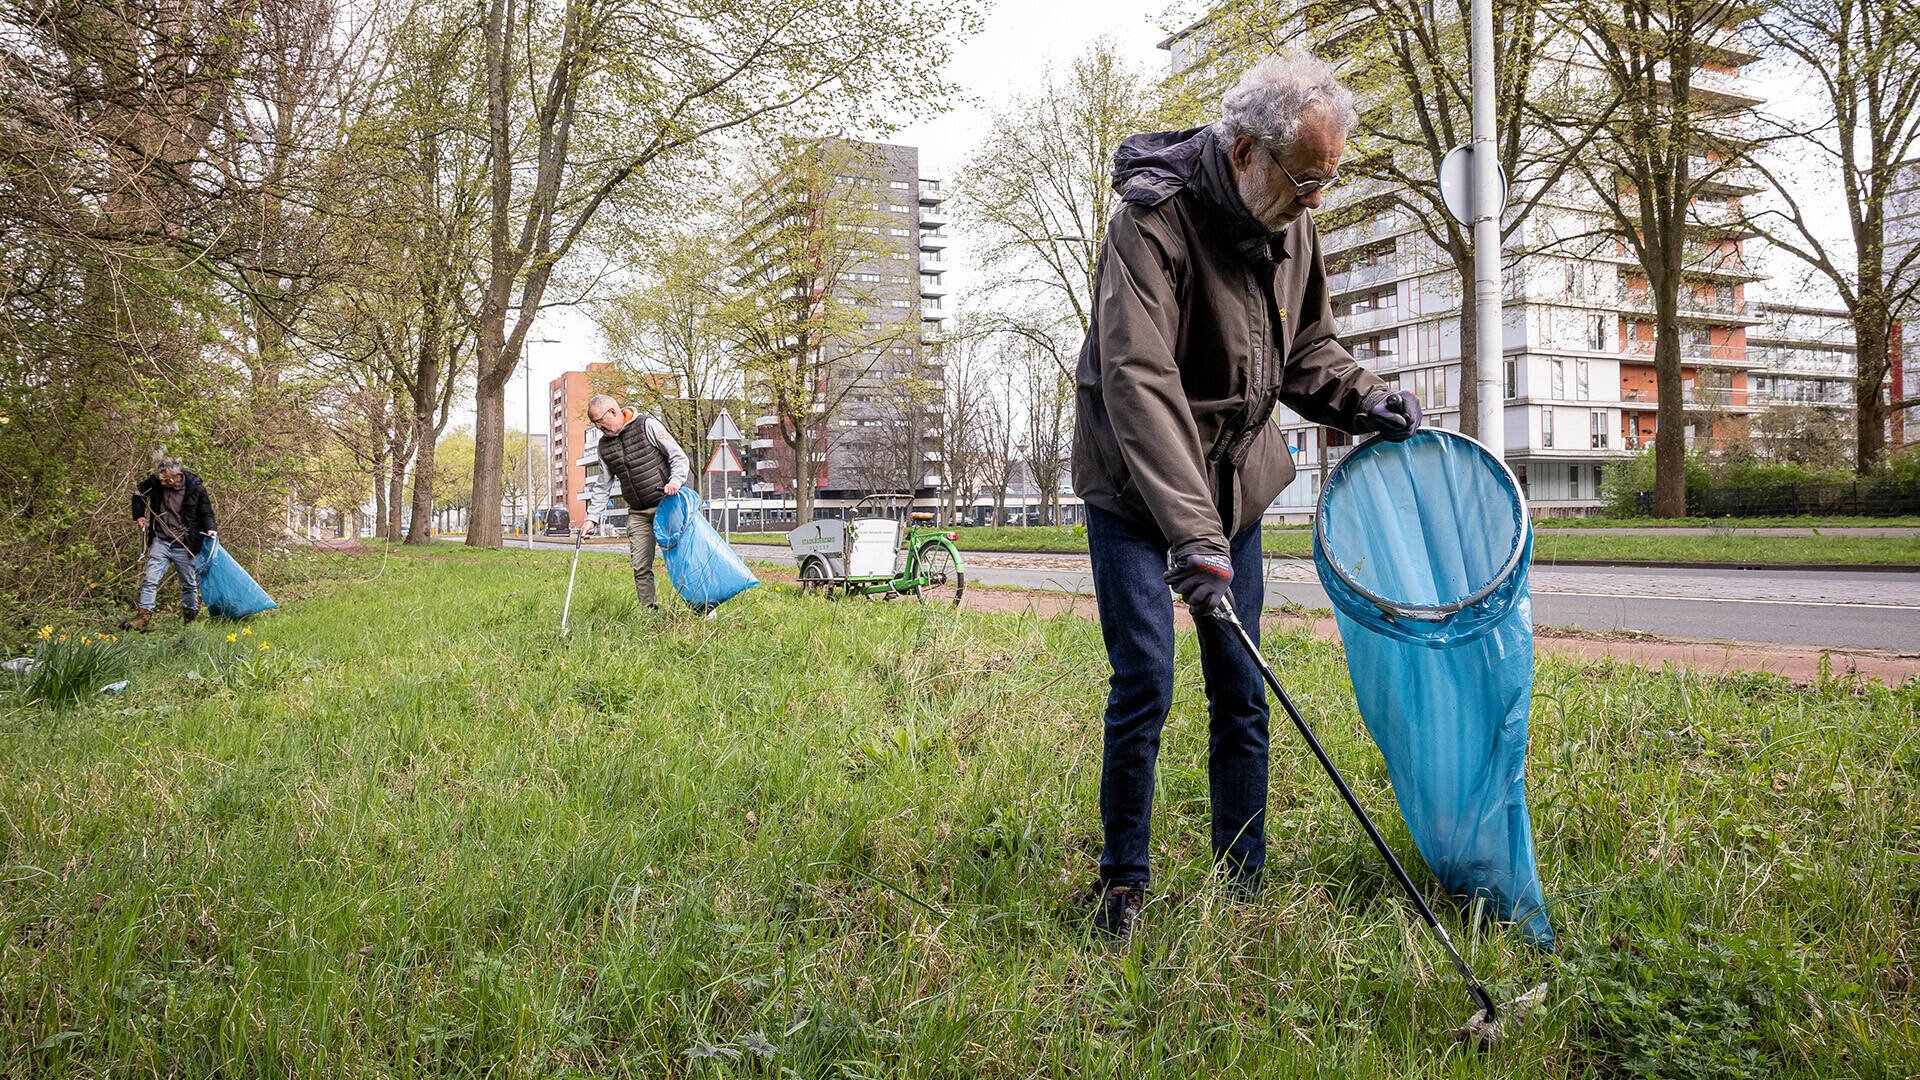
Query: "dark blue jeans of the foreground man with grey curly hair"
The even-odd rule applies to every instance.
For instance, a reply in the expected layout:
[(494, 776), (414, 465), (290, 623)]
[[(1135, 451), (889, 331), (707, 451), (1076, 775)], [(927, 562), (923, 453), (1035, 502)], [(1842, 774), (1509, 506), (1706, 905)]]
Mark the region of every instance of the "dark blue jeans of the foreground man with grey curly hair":
[[(1167, 540), (1152, 525), (1087, 507), (1087, 548), (1100, 636), (1114, 675), (1100, 761), (1102, 884), (1146, 886), (1160, 728), (1173, 707), (1173, 594)], [(1233, 607), (1260, 642), (1265, 580), (1260, 527), (1233, 538)], [(1236, 884), (1258, 886), (1267, 863), (1267, 688), (1233, 630), (1198, 617), (1208, 701), (1208, 792), (1213, 861)]]

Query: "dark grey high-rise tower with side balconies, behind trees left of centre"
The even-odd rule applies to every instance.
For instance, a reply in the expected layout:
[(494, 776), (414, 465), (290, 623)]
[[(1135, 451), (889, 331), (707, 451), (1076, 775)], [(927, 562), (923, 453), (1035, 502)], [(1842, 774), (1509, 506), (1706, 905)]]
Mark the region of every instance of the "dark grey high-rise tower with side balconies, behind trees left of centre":
[[(822, 380), (820, 396), (835, 400), (814, 461), (791, 461), (778, 430), (778, 417), (755, 419), (749, 452), (755, 457), (753, 490), (762, 498), (793, 494), (803, 467), (814, 471), (822, 505), (856, 500), (870, 492), (914, 490), (931, 498), (939, 484), (941, 386), (945, 371), (939, 346), (947, 329), (947, 194), (937, 179), (922, 177), (920, 150), (883, 142), (828, 140), (835, 160), (847, 156), (845, 175), (828, 177), (839, 186), (831, 198), (858, 200), (862, 233), (872, 233), (858, 265), (839, 275), (843, 288), (814, 282), (816, 304), (858, 307), (858, 327), (872, 346), (847, 346), (835, 371)], [(766, 238), (793, 221), (804, 221), (808, 200), (822, 198), (776, 177), (749, 202), (755, 221), (743, 238), (747, 252), (764, 250)], [(870, 213), (866, 209), (872, 208)], [(749, 273), (758, 267), (747, 267)], [(799, 286), (804, 288), (804, 286)], [(801, 348), (801, 346), (795, 346)], [(749, 384), (749, 398), (764, 400)], [(816, 400), (816, 409), (824, 404)]]

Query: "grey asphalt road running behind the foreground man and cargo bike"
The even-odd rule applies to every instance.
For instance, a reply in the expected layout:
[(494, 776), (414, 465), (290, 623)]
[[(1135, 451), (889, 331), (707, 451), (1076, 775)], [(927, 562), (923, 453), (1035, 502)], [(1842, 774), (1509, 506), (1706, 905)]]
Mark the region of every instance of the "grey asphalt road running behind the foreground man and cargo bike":
[[(588, 550), (626, 555), (624, 544)], [(741, 544), (737, 552), (747, 559), (793, 563), (785, 548)], [(968, 584), (1092, 594), (1085, 555), (981, 552), (964, 557)], [(1532, 596), (1540, 626), (1920, 651), (1920, 575), (1914, 573), (1534, 567)], [(1313, 565), (1304, 559), (1269, 563), (1267, 603), (1288, 601), (1329, 607)]]

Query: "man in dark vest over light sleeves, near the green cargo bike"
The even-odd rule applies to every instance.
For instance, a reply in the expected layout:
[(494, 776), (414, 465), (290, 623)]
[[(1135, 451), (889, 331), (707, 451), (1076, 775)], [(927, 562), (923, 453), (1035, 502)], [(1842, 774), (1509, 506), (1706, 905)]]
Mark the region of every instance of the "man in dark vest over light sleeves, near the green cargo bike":
[(599, 494), (588, 500), (588, 515), (582, 532), (593, 534), (599, 517), (612, 502), (612, 482), (620, 480), (620, 498), (626, 500), (626, 548), (634, 559), (634, 592), (639, 603), (659, 611), (660, 603), (653, 592), (653, 511), (660, 500), (680, 492), (687, 482), (687, 452), (666, 432), (666, 425), (641, 415), (637, 409), (624, 409), (620, 402), (595, 394), (588, 398), (588, 423), (601, 432), (601, 486)]

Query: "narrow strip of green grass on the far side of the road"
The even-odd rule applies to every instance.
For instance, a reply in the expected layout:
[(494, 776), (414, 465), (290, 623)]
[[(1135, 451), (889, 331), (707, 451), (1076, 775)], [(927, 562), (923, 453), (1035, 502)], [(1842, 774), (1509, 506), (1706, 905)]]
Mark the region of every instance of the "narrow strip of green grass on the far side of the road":
[[(1087, 550), (1087, 532), (1046, 525), (1035, 528), (958, 528), (962, 552), (1058, 552)], [(735, 544), (785, 546), (785, 534), (735, 532)], [(1306, 527), (1263, 532), (1269, 555), (1309, 557), (1313, 534)], [(1920, 565), (1920, 538), (1907, 536), (1619, 536), (1605, 532), (1546, 530), (1534, 534), (1534, 559), (1542, 563), (1578, 561), (1655, 561), (1655, 563), (1743, 563), (1743, 565)]]

